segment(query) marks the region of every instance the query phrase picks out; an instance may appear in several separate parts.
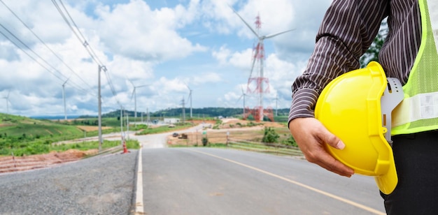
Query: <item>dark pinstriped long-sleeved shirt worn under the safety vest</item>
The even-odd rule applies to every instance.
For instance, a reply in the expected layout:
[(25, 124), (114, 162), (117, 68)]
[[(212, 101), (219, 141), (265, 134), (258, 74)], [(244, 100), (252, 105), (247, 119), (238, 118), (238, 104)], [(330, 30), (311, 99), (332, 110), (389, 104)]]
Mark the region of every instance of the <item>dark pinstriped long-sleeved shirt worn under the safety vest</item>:
[(306, 69), (292, 84), (289, 121), (314, 117), (320, 92), (335, 77), (359, 68), (359, 58), (385, 17), (389, 32), (379, 62), (387, 77), (406, 84), (421, 43), (418, 1), (334, 0), (320, 25)]

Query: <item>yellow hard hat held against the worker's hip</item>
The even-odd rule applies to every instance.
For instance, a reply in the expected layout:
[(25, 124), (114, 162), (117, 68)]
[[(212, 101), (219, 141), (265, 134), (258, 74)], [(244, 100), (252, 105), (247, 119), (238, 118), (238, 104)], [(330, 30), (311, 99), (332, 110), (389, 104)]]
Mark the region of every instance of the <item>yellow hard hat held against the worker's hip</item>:
[(332, 80), (315, 107), (316, 119), (346, 145), (339, 150), (325, 144), (325, 149), (355, 173), (374, 176), (385, 194), (392, 193), (398, 181), (390, 123), (391, 111), (403, 97), (400, 81), (386, 78), (373, 61)]

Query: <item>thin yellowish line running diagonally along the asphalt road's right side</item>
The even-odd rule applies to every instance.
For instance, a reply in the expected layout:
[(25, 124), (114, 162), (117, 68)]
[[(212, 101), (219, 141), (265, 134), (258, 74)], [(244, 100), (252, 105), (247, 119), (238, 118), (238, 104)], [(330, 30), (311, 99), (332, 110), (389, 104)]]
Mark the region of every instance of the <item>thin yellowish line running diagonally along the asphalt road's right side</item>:
[(264, 174), (266, 174), (266, 175), (270, 175), (271, 177), (276, 177), (276, 178), (278, 178), (278, 179), (282, 179), (283, 181), (288, 181), (288, 182), (290, 182), (290, 183), (292, 183), (292, 184), (295, 184), (295, 185), (297, 185), (297, 186), (301, 186), (301, 187), (303, 187), (303, 188), (307, 188), (307, 189), (309, 189), (309, 190), (311, 190), (311, 191), (314, 191), (314, 192), (316, 192), (316, 193), (320, 193), (320, 194), (326, 195), (326, 196), (328, 196), (328, 197), (330, 197), (330, 198), (334, 198), (335, 200), (339, 200), (339, 201), (341, 201), (341, 202), (345, 202), (345, 203), (347, 203), (348, 205), (353, 205), (353, 206), (355, 206), (355, 207), (359, 207), (360, 209), (364, 209), (364, 210), (366, 210), (367, 212), (371, 212), (371, 213), (373, 213), (373, 214), (382, 214), (382, 215), (386, 214), (386, 213), (380, 212), (380, 211), (378, 211), (378, 210), (376, 210), (376, 209), (374, 209), (374, 208), (371, 208), (371, 207), (367, 207), (367, 206), (365, 206), (365, 205), (362, 205), (362, 204), (360, 204), (360, 203), (358, 203), (358, 202), (353, 202), (353, 201), (351, 201), (351, 200), (347, 200), (346, 198), (341, 198), (341, 197), (339, 197), (339, 196), (337, 196), (337, 195), (333, 195), (332, 193), (327, 193), (327, 192), (325, 192), (325, 191), (321, 191), (321, 190), (319, 190), (319, 189), (317, 189), (317, 188), (313, 188), (313, 187), (311, 187), (311, 186), (307, 186), (306, 184), (299, 183), (298, 181), (293, 181), (293, 180), (291, 180), (291, 179), (288, 179), (288, 178), (285, 178), (285, 177), (282, 177), (282, 176), (279, 176), (279, 175), (275, 175), (274, 173), (267, 172), (267, 171), (264, 171), (264, 170), (260, 170), (259, 168), (255, 168), (255, 167), (250, 166), (250, 165), (246, 165), (246, 164), (244, 164), (244, 163), (239, 163), (239, 162), (237, 162), (237, 161), (233, 161), (233, 160), (230, 160), (230, 159), (228, 159), (228, 158), (222, 158), (222, 157), (220, 157), (220, 156), (216, 156), (216, 155), (214, 155), (214, 154), (209, 154), (209, 153), (202, 152), (202, 151), (196, 151), (196, 150), (192, 150), (192, 149), (190, 149), (190, 151), (195, 151), (195, 152), (200, 153), (200, 154), (205, 154), (205, 155), (208, 155), (208, 156), (212, 156), (212, 157), (215, 157), (215, 158), (219, 158), (219, 159), (224, 160), (224, 161), (228, 161), (228, 162), (231, 162), (231, 163), (235, 163), (235, 164), (237, 164), (237, 165), (241, 165), (241, 166), (246, 167), (246, 168), (250, 168), (251, 170), (255, 170), (255, 171), (257, 171), (257, 172), (262, 172), (262, 173), (264, 173)]

